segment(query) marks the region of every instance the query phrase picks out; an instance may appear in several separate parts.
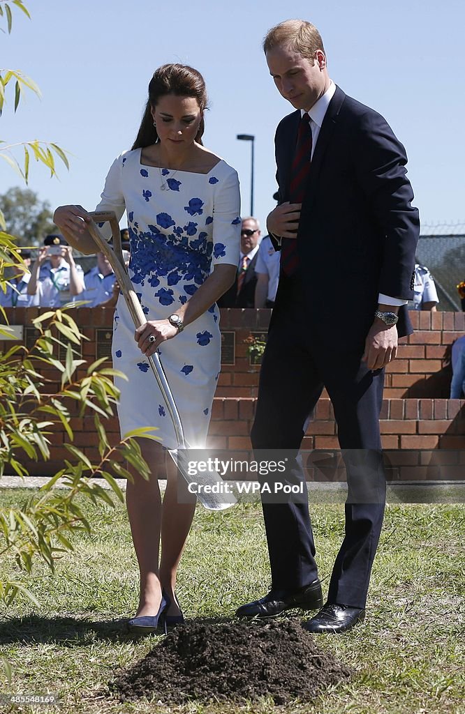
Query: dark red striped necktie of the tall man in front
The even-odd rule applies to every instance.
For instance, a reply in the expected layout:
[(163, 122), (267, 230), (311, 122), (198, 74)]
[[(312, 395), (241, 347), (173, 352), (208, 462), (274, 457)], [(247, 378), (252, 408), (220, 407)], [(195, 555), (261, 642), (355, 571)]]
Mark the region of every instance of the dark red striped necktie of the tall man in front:
[[(290, 173), (290, 203), (302, 203), (305, 188), (310, 176), (310, 158), (312, 155), (312, 128), (310, 116), (305, 112), (300, 119), (297, 144)], [(281, 268), (288, 276), (298, 268), (297, 238), (283, 238), (281, 241)]]

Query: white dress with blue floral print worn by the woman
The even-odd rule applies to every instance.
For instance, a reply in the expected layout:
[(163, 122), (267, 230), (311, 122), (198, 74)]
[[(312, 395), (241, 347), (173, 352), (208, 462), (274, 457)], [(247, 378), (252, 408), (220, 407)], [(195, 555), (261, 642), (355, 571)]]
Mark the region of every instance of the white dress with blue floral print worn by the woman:
[[(208, 174), (140, 163), (140, 149), (126, 151), (111, 168), (97, 211), (127, 211), (129, 277), (147, 320), (166, 319), (183, 305), (215, 265), (238, 265), (240, 194), (236, 171), (221, 160)], [(108, 224), (104, 226), (103, 232)], [(107, 236), (109, 234), (107, 233)], [(160, 360), (191, 446), (205, 446), (220, 373), (221, 336), (216, 305), (160, 346)], [(149, 363), (134, 341), (134, 323), (120, 295), (114, 314), (114, 367), (122, 436), (156, 427), (163, 446), (176, 448), (175, 430)]]

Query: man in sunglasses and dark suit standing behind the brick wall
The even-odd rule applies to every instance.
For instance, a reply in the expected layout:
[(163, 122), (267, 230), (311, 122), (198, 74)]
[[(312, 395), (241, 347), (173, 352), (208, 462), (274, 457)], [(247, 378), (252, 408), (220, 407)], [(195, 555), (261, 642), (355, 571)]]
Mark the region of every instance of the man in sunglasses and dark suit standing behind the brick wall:
[(218, 300), (220, 308), (255, 307), (255, 286), (257, 285), (255, 263), (258, 258), (260, 236), (260, 223), (257, 219), (252, 216), (243, 218), (243, 225), (240, 229), (238, 274), (230, 289)]

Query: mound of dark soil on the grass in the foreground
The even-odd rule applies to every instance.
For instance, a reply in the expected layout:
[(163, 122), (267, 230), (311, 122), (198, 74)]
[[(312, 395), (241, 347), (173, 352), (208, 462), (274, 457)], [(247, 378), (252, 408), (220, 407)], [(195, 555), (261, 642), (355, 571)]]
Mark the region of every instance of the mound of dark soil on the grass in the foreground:
[(173, 630), (109, 689), (121, 701), (145, 696), (182, 704), (271, 696), (284, 704), (312, 699), (350, 675), (298, 621), (192, 623)]

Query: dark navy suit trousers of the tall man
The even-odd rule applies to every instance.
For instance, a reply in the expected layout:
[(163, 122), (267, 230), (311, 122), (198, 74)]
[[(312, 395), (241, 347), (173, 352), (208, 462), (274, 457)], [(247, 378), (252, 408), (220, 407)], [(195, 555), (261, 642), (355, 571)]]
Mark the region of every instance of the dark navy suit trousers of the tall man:
[(303, 481), (305, 497), (266, 503), (263, 516), (272, 587), (292, 590), (318, 577), (308, 513), (305, 476), (298, 451), (323, 387), (333, 404), (338, 441), (346, 465), (346, 528), (333, 566), (328, 603), (364, 608), (371, 567), (383, 523), (386, 478), (379, 415), (383, 370), (361, 361), (364, 336), (341, 340), (337, 323), (305, 309), (298, 280), (283, 277), (260, 370), (254, 450), (283, 449), (290, 460), (289, 481)]

